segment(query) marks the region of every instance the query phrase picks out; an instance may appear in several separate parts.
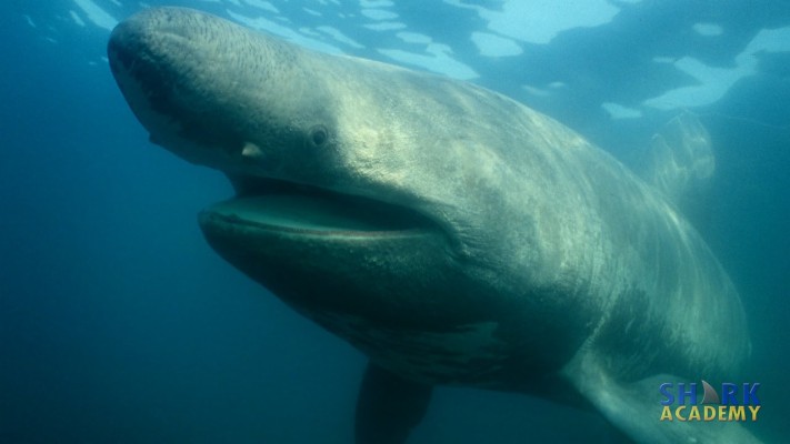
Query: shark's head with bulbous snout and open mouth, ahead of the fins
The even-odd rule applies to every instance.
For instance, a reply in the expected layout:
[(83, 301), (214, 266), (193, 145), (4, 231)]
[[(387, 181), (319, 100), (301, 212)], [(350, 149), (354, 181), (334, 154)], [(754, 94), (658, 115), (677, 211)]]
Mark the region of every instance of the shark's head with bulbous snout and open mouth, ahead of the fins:
[[(237, 195), (199, 221), (234, 266), (366, 353), (396, 350), (390, 367), (433, 349), (448, 366), (490, 366), (512, 345), (494, 320), (529, 311), (514, 301), (541, 249), (510, 152), (529, 142), (524, 124), (564, 137), (551, 121), (473, 85), (187, 9), (128, 19), (108, 53), (151, 141), (232, 181)], [(407, 333), (427, 331), (433, 345)]]

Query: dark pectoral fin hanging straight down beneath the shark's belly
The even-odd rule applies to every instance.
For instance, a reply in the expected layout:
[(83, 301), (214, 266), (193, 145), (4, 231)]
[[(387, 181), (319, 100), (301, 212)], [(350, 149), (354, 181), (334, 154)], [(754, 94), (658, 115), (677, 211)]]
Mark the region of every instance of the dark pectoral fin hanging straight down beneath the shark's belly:
[(422, 421), (431, 385), (368, 364), (357, 400), (357, 444), (402, 444)]

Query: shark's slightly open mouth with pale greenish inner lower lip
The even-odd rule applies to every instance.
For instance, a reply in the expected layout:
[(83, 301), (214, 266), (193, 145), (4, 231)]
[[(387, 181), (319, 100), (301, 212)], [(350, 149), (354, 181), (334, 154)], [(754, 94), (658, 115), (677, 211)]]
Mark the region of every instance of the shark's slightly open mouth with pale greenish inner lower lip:
[(406, 206), (274, 179), (232, 179), (237, 195), (203, 210), (201, 225), (310, 235), (388, 236), (436, 224)]

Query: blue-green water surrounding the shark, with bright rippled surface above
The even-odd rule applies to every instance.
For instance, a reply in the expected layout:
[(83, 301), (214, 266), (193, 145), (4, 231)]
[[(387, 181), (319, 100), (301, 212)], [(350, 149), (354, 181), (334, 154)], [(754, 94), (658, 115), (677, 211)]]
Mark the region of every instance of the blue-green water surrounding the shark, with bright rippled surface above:
[[(209, 249), (196, 214), (230, 186), (149, 143), (114, 84), (108, 28), (141, 7), (38, 3), (0, 6), (0, 443), (351, 442), (363, 357)], [(161, 4), (468, 79), (623, 159), (699, 114), (718, 167), (700, 230), (750, 320), (753, 430), (788, 442), (790, 6), (483, 3)], [(410, 443), (610, 438), (593, 413), (439, 390)]]

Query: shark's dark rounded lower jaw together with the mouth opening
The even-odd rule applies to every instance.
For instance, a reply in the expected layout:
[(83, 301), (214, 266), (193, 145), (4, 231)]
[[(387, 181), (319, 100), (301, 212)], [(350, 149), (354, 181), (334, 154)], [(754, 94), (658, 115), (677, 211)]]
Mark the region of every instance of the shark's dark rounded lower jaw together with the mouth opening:
[(444, 235), (416, 211), (273, 185), (210, 206), (200, 226), (220, 256), (308, 317), (420, 324), (412, 309), (460, 281)]

